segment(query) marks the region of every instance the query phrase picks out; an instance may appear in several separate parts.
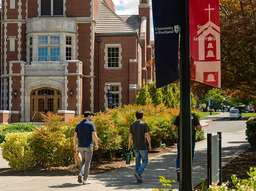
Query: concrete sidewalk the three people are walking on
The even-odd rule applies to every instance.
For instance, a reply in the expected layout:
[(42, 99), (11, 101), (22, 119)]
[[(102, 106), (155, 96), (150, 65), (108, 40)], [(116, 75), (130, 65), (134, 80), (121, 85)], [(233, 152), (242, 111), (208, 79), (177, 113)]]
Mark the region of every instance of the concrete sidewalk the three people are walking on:
[[(227, 113), (229, 114), (229, 113)], [(219, 114), (220, 115), (220, 114)], [(223, 114), (225, 115), (225, 114)], [(220, 116), (225, 118), (226, 116)], [(209, 119), (209, 117), (207, 117)], [(212, 118), (212, 120), (216, 120)], [(222, 135), (222, 166), (250, 148), (245, 141), (245, 130)], [(152, 191), (153, 188), (162, 188), (159, 175), (166, 179), (176, 180), (176, 157), (177, 150), (149, 158), (148, 165), (142, 174), (144, 182), (136, 183), (133, 176), (135, 163), (98, 175), (89, 175), (90, 185), (82, 185), (77, 182), (77, 176), (0, 176), (0, 190), (4, 191), (35, 191), (35, 190), (145, 190)], [(2, 155), (1, 157), (2, 158)], [(2, 168), (2, 161), (0, 161)], [(195, 157), (193, 162), (193, 184), (196, 186), (200, 179), (207, 178), (207, 139), (196, 143)], [(175, 190), (179, 183), (171, 182)]]

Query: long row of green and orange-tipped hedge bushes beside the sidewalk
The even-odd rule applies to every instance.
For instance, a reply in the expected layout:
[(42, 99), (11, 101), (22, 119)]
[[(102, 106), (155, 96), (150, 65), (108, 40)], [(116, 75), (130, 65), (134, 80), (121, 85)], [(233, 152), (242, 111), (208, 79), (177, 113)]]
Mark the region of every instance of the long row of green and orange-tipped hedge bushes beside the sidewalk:
[[(124, 106), (110, 109), (108, 113), (96, 113), (93, 116), (98, 136), (99, 149), (93, 152), (93, 158), (101, 161), (109, 158), (114, 161), (116, 156), (125, 156), (128, 148), (130, 124), (136, 121), (135, 112), (144, 111), (144, 122), (148, 123), (152, 148), (161, 144), (171, 145), (177, 140), (177, 130), (172, 131), (175, 116), (179, 109), (156, 107)], [(200, 119), (200, 114), (195, 111)], [(31, 133), (6, 134), (2, 147), (3, 158), (15, 170), (25, 170), (34, 165), (63, 165), (73, 162), (73, 135), (76, 124), (83, 116), (72, 118), (67, 123), (61, 122), (62, 117), (47, 113), (42, 115), (46, 126), (36, 127)], [(198, 131), (197, 131), (198, 132)], [(203, 130), (196, 134), (196, 140), (204, 139)]]

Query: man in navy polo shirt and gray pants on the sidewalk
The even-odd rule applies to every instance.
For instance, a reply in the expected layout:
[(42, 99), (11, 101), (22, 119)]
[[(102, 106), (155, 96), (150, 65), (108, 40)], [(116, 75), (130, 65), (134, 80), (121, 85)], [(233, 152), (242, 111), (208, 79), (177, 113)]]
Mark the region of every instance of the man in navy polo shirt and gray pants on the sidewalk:
[[(95, 141), (95, 150), (98, 149), (98, 137), (96, 134), (94, 123), (91, 122), (92, 116), (93, 114), (90, 111), (86, 111), (84, 113), (84, 120), (77, 123), (74, 134), (74, 150), (79, 150), (82, 156), (82, 162), (78, 175), (78, 182), (83, 184), (91, 183), (88, 181), (88, 175), (90, 170), (90, 163), (93, 156), (93, 137)], [(78, 147), (76, 146), (76, 138), (78, 138)], [(82, 175), (84, 175), (83, 181)]]

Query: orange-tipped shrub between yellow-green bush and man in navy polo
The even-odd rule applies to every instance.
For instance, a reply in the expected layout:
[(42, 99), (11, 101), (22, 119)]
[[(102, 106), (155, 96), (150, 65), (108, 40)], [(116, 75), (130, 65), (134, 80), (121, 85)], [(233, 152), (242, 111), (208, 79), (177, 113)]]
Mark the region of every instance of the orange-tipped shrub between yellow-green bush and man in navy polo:
[[(33, 132), (31, 145), (33, 146), (36, 160), (39, 164), (49, 169), (53, 165), (63, 165), (71, 160), (68, 154), (68, 145), (65, 135), (62, 133), (64, 123), (62, 116), (47, 113), (42, 114), (43, 120), (48, 124)], [(73, 157), (73, 156), (72, 156)]]

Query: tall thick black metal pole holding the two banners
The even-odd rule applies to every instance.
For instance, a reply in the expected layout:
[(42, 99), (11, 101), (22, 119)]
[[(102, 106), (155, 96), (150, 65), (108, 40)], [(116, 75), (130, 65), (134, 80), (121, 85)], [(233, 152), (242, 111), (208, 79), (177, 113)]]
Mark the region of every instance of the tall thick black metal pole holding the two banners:
[(192, 191), (192, 132), (188, 0), (180, 1), (181, 9), (181, 98), (180, 98), (180, 186)]

